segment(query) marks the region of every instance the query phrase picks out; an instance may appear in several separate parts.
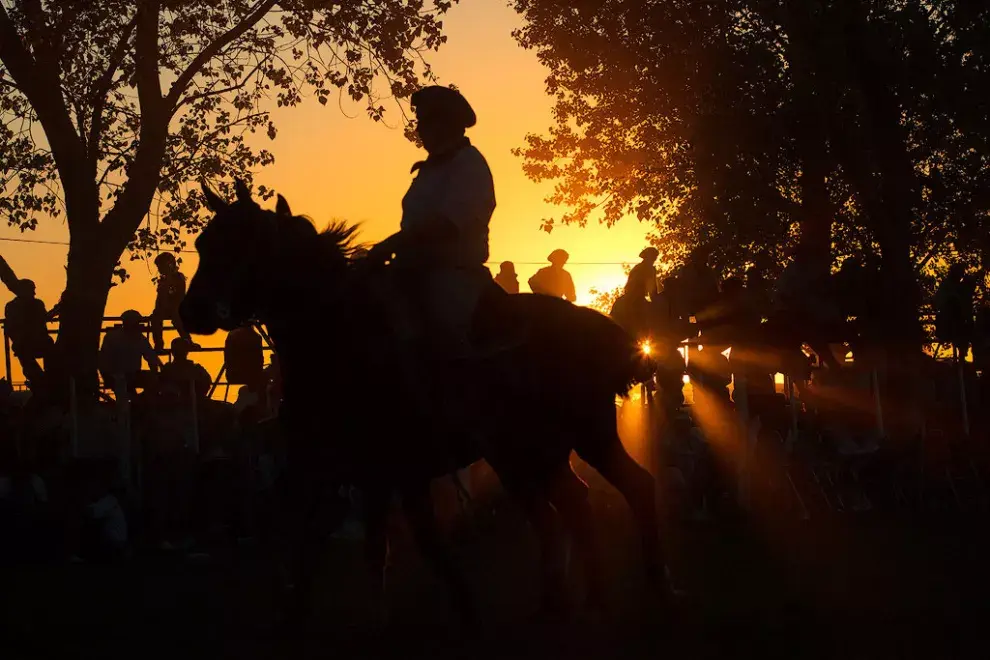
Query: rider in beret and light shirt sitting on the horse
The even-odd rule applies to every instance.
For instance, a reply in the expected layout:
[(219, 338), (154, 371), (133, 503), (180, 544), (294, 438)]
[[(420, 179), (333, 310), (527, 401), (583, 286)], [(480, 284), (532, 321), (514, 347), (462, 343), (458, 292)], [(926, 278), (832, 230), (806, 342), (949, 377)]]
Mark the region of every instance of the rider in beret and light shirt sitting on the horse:
[[(395, 267), (386, 297), (400, 335), (429, 335), (434, 348), (462, 356), (469, 352), (478, 300), (492, 283), (484, 265), (495, 210), (492, 174), (465, 135), (476, 118), (460, 92), (424, 87), (411, 100), (428, 157), (413, 165), (417, 175), (402, 199), (399, 232), (376, 245), (369, 258)], [(408, 300), (422, 311), (396, 308)], [(422, 325), (427, 332), (415, 327)]]

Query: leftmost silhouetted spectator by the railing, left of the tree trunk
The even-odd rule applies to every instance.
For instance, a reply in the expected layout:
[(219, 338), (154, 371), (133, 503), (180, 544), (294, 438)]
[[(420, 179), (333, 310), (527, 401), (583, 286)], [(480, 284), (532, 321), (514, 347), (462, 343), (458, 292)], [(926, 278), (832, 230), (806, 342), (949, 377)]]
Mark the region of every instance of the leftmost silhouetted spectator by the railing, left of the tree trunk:
[(45, 303), (35, 297), (31, 280), (18, 280), (16, 297), (4, 308), (7, 336), (11, 350), (21, 363), (24, 378), (35, 389), (44, 380), (45, 372), (39, 360), (51, 356), (55, 343), (48, 334), (48, 311)]

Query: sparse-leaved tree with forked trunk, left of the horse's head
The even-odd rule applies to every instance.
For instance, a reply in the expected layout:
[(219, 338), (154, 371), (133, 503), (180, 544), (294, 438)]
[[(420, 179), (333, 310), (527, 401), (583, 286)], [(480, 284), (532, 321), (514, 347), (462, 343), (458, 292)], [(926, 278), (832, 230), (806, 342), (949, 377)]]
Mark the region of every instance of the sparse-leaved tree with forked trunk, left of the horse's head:
[(381, 121), (430, 76), (450, 6), (0, 0), (0, 213), (21, 229), (64, 214), (60, 344), (82, 342), (95, 364), (124, 251), (178, 249), (204, 218), (190, 183), (226, 188), (272, 163), (246, 137), (275, 138), (273, 106), (346, 97)]

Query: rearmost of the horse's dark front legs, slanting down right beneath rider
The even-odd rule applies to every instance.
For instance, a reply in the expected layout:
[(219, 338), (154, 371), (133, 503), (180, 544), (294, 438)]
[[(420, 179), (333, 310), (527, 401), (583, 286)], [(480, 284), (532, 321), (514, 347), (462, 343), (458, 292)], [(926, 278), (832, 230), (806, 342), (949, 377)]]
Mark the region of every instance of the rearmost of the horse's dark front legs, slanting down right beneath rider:
[(450, 590), (453, 611), (468, 630), (477, 628), (480, 625), (477, 607), (467, 580), (458, 569), (450, 546), (437, 525), (429, 482), (403, 488), (401, 498), (403, 511), (423, 558)]

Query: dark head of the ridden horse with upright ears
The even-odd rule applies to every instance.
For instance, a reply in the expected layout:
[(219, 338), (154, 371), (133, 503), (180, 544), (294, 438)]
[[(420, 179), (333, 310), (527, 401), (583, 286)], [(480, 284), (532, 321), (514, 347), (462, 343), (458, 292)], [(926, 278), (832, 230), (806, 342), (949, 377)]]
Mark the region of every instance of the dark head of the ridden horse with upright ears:
[(292, 217), (289, 205), (279, 196), (276, 211), (266, 211), (243, 182), (236, 191), (236, 200), (227, 202), (203, 186), (214, 215), (196, 239), (199, 266), (180, 309), (186, 328), (196, 334), (233, 330), (258, 318), (278, 282), (284, 259), (279, 233)]

